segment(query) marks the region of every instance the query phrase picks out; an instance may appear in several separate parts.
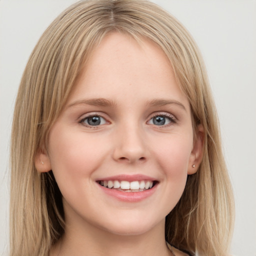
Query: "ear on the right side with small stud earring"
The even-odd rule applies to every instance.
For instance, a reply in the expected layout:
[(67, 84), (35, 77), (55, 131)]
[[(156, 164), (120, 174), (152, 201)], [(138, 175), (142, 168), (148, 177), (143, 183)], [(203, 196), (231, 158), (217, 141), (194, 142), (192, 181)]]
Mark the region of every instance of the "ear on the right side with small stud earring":
[(187, 174), (194, 174), (202, 160), (203, 155), (204, 128), (201, 124), (197, 125), (193, 148), (190, 153)]

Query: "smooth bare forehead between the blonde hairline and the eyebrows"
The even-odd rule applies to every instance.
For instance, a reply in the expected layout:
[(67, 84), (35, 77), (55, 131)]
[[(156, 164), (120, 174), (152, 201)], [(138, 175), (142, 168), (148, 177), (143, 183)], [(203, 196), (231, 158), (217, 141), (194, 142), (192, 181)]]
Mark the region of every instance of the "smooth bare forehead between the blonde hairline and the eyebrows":
[(119, 32), (108, 33), (92, 51), (69, 102), (79, 97), (110, 97), (116, 101), (127, 97), (135, 101), (174, 97), (187, 101), (159, 46)]

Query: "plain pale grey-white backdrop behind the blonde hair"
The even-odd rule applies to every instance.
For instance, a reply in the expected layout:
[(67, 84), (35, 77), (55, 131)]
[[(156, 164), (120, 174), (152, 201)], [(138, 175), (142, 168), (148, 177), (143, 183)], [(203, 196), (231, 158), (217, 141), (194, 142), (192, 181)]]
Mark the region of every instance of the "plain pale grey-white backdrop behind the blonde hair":
[[(8, 249), (8, 150), (18, 84), (36, 41), (75, 0), (0, 0), (0, 255)], [(256, 255), (256, 1), (154, 0), (201, 49), (236, 202), (232, 253)], [(29, 109), (27, 109), (29, 111)]]

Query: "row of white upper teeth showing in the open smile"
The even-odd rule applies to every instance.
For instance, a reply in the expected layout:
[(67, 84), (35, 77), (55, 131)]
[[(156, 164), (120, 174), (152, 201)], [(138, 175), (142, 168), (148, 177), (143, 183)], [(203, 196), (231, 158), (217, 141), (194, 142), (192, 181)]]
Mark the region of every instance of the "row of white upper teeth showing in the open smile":
[(146, 189), (152, 188), (153, 181), (151, 180), (135, 180), (135, 181), (126, 181), (126, 180), (100, 180), (99, 184), (108, 187), (108, 188), (117, 188), (118, 190), (124, 189), (125, 192), (139, 192)]

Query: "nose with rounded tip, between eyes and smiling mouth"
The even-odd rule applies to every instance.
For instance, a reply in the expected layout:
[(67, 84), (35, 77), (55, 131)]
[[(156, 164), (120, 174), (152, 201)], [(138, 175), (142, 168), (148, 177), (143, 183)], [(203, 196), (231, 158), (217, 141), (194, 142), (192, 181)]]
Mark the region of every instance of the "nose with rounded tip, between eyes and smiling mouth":
[(142, 128), (125, 126), (120, 127), (114, 134), (115, 147), (113, 158), (119, 162), (135, 163), (147, 159), (146, 139)]

